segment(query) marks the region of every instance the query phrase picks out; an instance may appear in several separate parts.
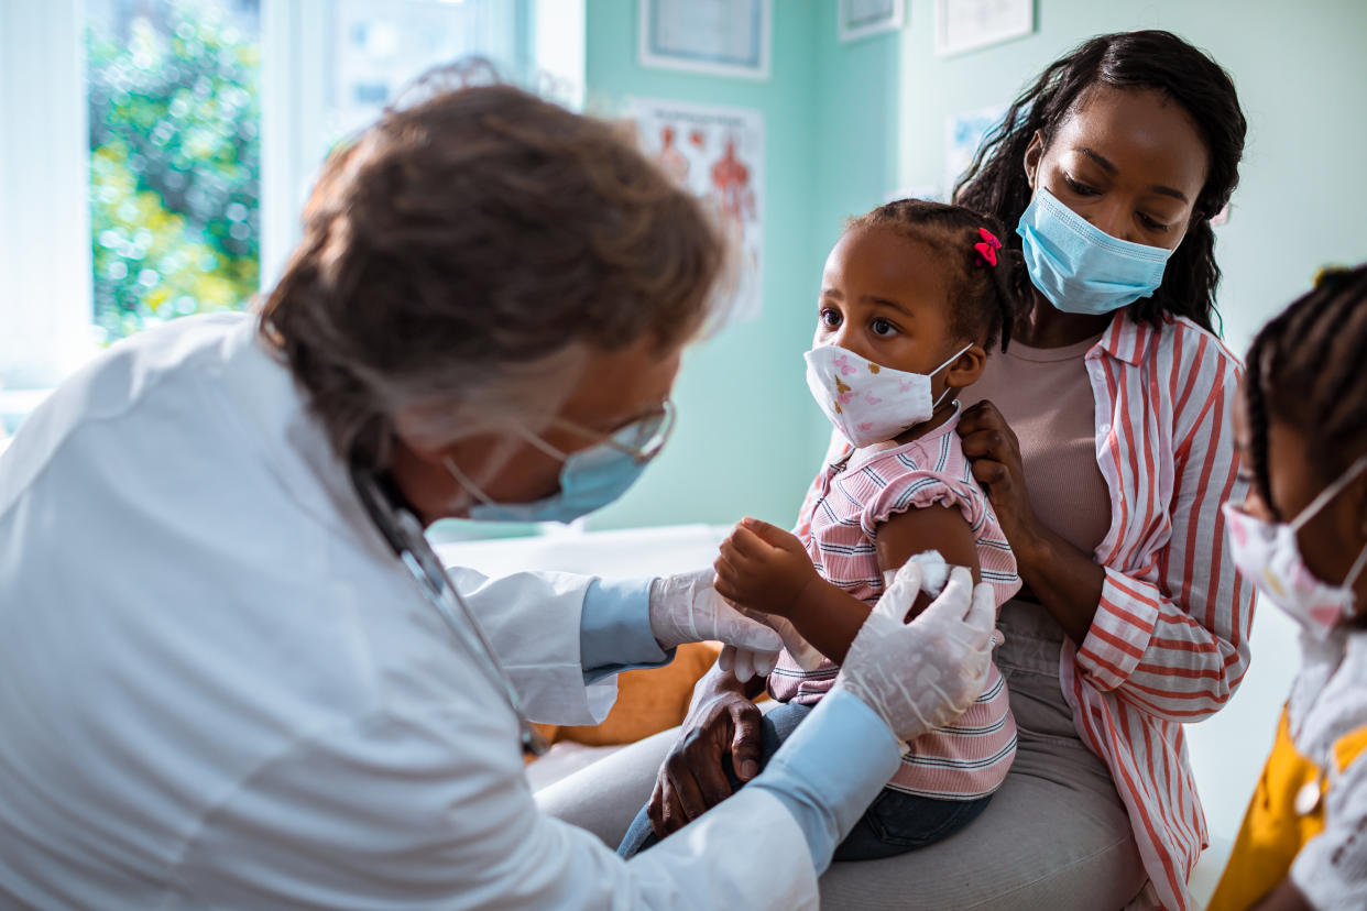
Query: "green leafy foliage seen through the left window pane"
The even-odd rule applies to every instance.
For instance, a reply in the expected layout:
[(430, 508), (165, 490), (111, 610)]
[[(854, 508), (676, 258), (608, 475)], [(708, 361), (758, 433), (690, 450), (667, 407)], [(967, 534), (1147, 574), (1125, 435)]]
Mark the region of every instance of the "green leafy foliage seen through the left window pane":
[[(195, 0), (87, 31), (94, 321), (112, 341), (243, 306), (258, 265), (260, 49)], [(159, 27), (160, 26), (160, 27)]]

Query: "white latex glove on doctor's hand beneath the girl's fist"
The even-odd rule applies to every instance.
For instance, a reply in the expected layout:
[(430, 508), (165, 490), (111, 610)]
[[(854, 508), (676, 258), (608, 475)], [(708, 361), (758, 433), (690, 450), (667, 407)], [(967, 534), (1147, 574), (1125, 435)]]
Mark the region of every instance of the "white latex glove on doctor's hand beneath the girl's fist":
[(660, 576), (651, 583), (651, 632), (662, 647), (685, 642), (722, 645), (776, 653), (783, 642), (763, 623), (742, 616), (712, 587), (711, 567)]

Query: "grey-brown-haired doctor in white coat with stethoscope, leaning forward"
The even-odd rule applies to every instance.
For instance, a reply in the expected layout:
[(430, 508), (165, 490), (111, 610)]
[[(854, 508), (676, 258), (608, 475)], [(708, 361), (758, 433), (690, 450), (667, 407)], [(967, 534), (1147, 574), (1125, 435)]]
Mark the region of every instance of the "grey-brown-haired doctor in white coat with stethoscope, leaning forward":
[(503, 86), (385, 115), (305, 220), (260, 316), (116, 346), (0, 458), (0, 906), (815, 907), (898, 744), (980, 691), (986, 586), (905, 624), (901, 576), (764, 774), (622, 862), (537, 813), (528, 720), (778, 636), (705, 576), (448, 576), (421, 530), (619, 496), (716, 235), (608, 126)]

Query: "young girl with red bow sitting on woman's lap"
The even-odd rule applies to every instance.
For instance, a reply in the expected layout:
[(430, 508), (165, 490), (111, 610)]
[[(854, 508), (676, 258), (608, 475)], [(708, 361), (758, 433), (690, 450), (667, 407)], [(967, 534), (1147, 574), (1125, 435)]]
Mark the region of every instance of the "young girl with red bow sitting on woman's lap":
[[(763, 723), (764, 761), (831, 688), (884, 576), (913, 555), (934, 549), (969, 567), (975, 582), (994, 586), (998, 606), (1020, 589), (954, 433), (954, 393), (982, 374), (987, 350), (1009, 341), (1025, 280), (999, 235), (1001, 225), (968, 209), (904, 199), (853, 220), (826, 261), (807, 381), (848, 445), (817, 475), (801, 538), (745, 519), (716, 561), (723, 597), (787, 617), (826, 656), (815, 669), (781, 656), (768, 690), (785, 705)], [(916, 668), (906, 675), (925, 684)], [(1014, 747), (994, 668), (968, 713), (908, 744), (835, 859), (891, 856), (964, 828), (1002, 783)], [(623, 855), (653, 843), (656, 803), (632, 824)], [(660, 822), (653, 829), (663, 832)]]

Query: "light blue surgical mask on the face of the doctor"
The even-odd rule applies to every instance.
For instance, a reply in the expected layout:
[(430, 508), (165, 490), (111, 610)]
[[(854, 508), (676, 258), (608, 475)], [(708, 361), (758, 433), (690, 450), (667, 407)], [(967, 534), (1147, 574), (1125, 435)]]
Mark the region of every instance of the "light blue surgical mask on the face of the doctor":
[[(560, 422), (566, 423), (567, 422)], [(601, 437), (596, 445), (565, 453), (530, 430), (521, 430), (528, 443), (559, 459), (560, 489), (533, 503), (495, 503), (450, 458), (446, 470), (477, 503), (469, 518), (476, 522), (574, 522), (618, 500), (659, 455), (674, 430), (674, 406), (668, 402), (659, 414), (630, 423), (610, 436), (567, 425), (577, 433)]]

